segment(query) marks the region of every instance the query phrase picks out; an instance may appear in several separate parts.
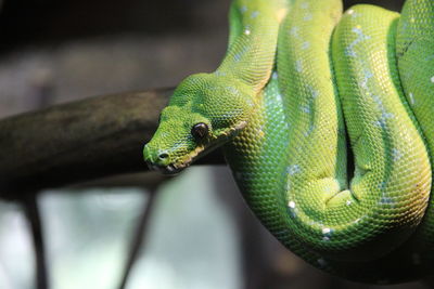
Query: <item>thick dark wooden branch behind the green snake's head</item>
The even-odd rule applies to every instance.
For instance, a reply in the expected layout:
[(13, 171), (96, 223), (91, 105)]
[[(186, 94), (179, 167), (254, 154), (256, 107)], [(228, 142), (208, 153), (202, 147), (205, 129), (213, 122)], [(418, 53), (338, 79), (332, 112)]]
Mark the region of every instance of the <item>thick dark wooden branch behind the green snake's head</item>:
[[(171, 89), (91, 97), (0, 120), (0, 196), (148, 170)], [(222, 163), (219, 152), (202, 163)]]

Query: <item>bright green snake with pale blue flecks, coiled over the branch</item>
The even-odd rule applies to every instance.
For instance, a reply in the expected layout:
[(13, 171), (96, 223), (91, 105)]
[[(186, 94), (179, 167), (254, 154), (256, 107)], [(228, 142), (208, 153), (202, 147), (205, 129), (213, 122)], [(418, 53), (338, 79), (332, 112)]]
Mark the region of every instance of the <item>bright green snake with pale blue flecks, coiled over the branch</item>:
[(434, 268), (434, 1), (234, 0), (212, 74), (184, 79), (144, 146), (176, 173), (222, 147), (286, 248), (350, 280)]

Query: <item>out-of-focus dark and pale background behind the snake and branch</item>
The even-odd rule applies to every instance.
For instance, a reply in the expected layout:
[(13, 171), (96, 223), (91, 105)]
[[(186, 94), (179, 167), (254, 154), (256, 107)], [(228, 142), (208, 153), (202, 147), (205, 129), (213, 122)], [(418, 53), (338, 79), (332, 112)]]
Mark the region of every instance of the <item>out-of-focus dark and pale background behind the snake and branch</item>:
[[(399, 11), (403, 1), (371, 2)], [(175, 87), (212, 71), (226, 50), (229, 3), (0, 0), (0, 117)], [(39, 194), (51, 288), (119, 288), (150, 196), (146, 246), (125, 288), (380, 288), (330, 277), (286, 251), (248, 211), (225, 167), (117, 180), (122, 186), (107, 180)], [(0, 202), (0, 288), (35, 288), (34, 263), (23, 209)]]

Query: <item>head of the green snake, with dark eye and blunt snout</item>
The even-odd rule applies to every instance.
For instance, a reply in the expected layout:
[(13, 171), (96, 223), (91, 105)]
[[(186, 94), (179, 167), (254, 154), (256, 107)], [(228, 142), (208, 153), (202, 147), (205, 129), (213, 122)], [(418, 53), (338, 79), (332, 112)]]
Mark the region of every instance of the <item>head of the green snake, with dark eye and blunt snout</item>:
[(199, 74), (184, 79), (163, 109), (144, 146), (151, 169), (174, 174), (221, 146), (246, 124), (255, 106), (253, 90), (234, 79)]

